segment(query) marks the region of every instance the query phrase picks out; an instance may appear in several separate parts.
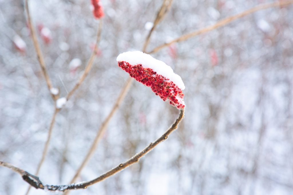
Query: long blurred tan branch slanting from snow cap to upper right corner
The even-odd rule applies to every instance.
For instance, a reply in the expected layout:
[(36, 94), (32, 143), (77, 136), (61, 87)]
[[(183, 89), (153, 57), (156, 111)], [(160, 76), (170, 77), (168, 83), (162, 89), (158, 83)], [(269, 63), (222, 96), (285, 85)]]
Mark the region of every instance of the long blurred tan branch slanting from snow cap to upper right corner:
[(188, 33), (188, 34), (184, 34), (181, 37), (172, 40), (171, 42), (168, 42), (168, 43), (165, 43), (165, 44), (162, 44), (162, 45), (156, 47), (151, 52), (149, 52), (149, 54), (156, 53), (159, 50), (163, 49), (164, 47), (167, 47), (167, 46), (169, 46), (169, 45), (171, 45), (173, 43), (186, 41), (186, 40), (188, 40), (188, 39), (190, 39), (192, 37), (195, 37), (197, 35), (200, 35), (200, 34), (212, 31), (214, 29), (217, 29), (219, 27), (225, 26), (225, 25), (233, 22), (234, 20), (243, 18), (244, 16), (249, 15), (251, 13), (254, 13), (256, 11), (260, 11), (260, 10), (264, 10), (264, 9), (268, 9), (268, 8), (272, 8), (272, 7), (278, 7), (278, 6), (281, 6), (281, 7), (282, 6), (288, 6), (290, 4), (293, 4), (292, 0), (291, 1), (276, 1), (276, 2), (273, 2), (273, 3), (268, 3), (268, 4), (262, 4), (262, 5), (259, 5), (259, 6), (255, 6), (254, 8), (246, 10), (246, 11), (244, 11), (242, 13), (239, 13), (239, 14), (236, 14), (234, 16), (231, 16), (231, 17), (225, 18), (223, 20), (220, 20), (219, 22), (217, 22), (214, 25), (210, 25), (208, 27), (202, 28), (200, 30), (197, 30), (197, 31), (194, 31), (194, 32), (191, 32), (191, 33)]

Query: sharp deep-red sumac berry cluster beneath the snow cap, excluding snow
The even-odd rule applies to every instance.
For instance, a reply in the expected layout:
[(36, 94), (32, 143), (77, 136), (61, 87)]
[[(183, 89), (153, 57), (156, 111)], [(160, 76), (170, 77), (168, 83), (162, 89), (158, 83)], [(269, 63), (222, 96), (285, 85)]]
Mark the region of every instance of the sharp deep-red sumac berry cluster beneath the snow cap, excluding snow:
[(141, 64), (131, 65), (128, 62), (120, 61), (118, 65), (135, 80), (151, 87), (151, 90), (160, 96), (163, 101), (169, 100), (170, 104), (178, 109), (185, 107), (182, 90), (168, 78), (157, 74), (151, 68), (144, 68)]

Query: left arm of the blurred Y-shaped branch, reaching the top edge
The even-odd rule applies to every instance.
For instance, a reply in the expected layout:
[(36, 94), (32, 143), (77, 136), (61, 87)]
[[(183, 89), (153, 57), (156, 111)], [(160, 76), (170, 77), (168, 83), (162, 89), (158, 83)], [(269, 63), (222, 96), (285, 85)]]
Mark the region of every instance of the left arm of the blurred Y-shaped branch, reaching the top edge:
[(30, 32), (31, 32), (32, 39), (33, 39), (33, 44), (34, 44), (34, 47), (35, 47), (35, 50), (36, 50), (36, 53), (37, 53), (38, 61), (40, 63), (41, 69), (42, 69), (42, 73), (43, 73), (43, 75), (45, 77), (49, 92), (50, 92), (53, 100), (56, 101), (57, 96), (54, 95), (53, 93), (51, 93), (51, 89), (53, 88), (53, 85), (52, 85), (50, 76), (48, 74), (47, 68), (46, 68), (45, 59), (43, 57), (43, 54), (42, 54), (42, 51), (41, 51), (41, 48), (40, 48), (40, 44), (38, 42), (38, 37), (36, 35), (35, 27), (33, 26), (33, 23), (32, 23), (32, 19), (31, 19), (31, 16), (30, 16), (30, 10), (29, 10), (29, 7), (28, 7), (28, 0), (25, 0), (25, 11), (26, 11), (26, 16), (27, 16), (27, 20), (28, 20), (28, 27), (30, 28)]

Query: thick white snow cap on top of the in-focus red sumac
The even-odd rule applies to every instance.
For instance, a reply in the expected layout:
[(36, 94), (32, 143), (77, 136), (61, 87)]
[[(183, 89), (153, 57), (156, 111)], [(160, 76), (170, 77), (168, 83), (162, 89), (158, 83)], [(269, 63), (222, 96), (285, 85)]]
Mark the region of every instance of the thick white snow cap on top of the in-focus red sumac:
[(173, 81), (180, 89), (185, 89), (181, 77), (175, 74), (170, 66), (151, 57), (149, 54), (145, 54), (141, 51), (127, 51), (119, 54), (116, 60), (118, 62), (125, 61), (131, 65), (141, 64), (145, 68), (151, 68), (159, 75), (162, 75)]

